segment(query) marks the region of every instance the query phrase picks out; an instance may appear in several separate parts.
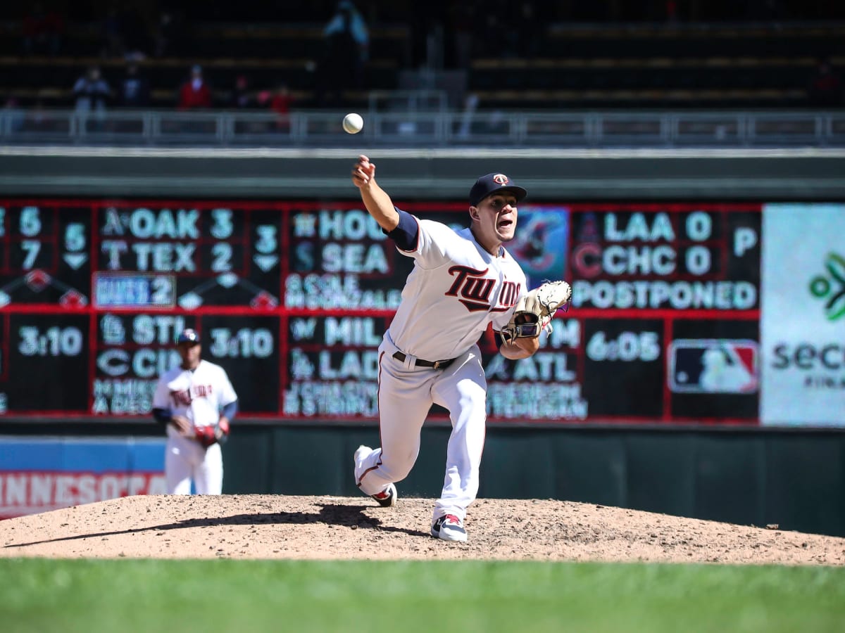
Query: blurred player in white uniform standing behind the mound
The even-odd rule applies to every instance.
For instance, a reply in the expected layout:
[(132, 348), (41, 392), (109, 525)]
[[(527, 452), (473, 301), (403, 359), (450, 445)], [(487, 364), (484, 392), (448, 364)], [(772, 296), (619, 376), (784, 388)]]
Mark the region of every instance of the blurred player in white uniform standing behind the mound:
[(153, 396), (153, 417), (167, 428), (167, 492), (189, 495), (193, 479), (199, 495), (220, 495), (220, 445), (237, 413), (237, 394), (220, 365), (200, 359), (198, 333), (180, 333), (177, 349), (182, 363), (159, 378)]

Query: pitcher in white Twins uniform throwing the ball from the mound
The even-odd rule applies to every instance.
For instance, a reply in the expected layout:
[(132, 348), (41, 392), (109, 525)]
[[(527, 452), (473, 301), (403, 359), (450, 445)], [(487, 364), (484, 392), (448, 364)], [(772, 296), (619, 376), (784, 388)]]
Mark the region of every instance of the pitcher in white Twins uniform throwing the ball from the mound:
[[(439, 404), (449, 410), (452, 433), (431, 533), (465, 541), (466, 508), (478, 492), (487, 420), (487, 380), (477, 341), (490, 323), (501, 331), (527, 291), (525, 273), (503, 246), (514, 238), (516, 203), (526, 190), (504, 174), (478, 178), (470, 191), (470, 226), (455, 231), (395, 208), (376, 184), (375, 165), (367, 156), (358, 157), (352, 182), (396, 249), (414, 259), (379, 346), (381, 446), (355, 452), (355, 482), (380, 505), (395, 505), (394, 484), (417, 461), (423, 423), (432, 404)], [(499, 353), (512, 360), (539, 347), (537, 338), (498, 340)]]

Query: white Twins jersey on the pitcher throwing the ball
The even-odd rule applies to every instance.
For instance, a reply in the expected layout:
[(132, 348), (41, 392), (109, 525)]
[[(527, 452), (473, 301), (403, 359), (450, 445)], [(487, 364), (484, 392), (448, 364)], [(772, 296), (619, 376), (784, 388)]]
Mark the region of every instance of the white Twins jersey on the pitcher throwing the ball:
[(417, 220), (414, 268), (390, 339), (406, 354), (424, 360), (456, 358), (476, 344), (493, 323), (503, 329), (516, 300), (526, 294), (526, 276), (504, 247), (491, 255), (469, 228), (455, 231), (432, 220)]

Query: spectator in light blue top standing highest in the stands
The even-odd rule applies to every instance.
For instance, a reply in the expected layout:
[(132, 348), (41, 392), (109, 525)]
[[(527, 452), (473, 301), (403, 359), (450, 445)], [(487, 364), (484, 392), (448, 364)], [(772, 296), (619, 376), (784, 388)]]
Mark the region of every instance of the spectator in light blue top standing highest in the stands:
[(342, 93), (361, 89), (369, 56), (369, 31), (351, 0), (341, 0), (323, 30), (324, 52), (319, 69), (318, 105), (340, 105)]

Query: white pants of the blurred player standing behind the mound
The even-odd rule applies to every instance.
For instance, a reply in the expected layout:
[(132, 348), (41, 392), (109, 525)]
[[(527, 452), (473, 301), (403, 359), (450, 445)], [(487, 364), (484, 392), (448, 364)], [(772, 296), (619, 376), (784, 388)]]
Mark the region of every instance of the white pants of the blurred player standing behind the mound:
[(198, 495), (221, 495), (223, 454), (220, 444), (204, 448), (188, 437), (168, 435), (164, 473), (167, 492), (171, 495), (190, 495), (192, 479)]

